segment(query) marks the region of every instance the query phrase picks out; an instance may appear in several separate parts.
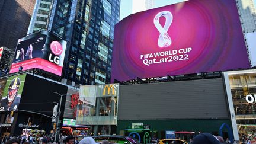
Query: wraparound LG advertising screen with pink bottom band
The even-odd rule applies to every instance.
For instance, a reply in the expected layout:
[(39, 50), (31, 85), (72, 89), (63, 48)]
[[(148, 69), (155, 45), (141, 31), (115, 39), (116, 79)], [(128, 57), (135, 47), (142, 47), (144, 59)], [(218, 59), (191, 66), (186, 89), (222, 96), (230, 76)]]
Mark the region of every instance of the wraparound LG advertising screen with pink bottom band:
[(61, 76), (65, 50), (66, 41), (48, 31), (23, 37), (18, 40), (10, 73), (22, 66), (23, 71), (37, 68)]

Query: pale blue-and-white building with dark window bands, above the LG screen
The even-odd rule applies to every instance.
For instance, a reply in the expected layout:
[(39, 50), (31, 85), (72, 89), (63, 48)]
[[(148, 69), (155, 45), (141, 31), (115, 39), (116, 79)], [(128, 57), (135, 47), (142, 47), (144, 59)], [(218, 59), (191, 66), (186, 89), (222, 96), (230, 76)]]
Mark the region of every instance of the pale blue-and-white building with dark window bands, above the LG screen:
[(27, 33), (47, 28), (50, 6), (53, 0), (36, 0), (33, 15)]

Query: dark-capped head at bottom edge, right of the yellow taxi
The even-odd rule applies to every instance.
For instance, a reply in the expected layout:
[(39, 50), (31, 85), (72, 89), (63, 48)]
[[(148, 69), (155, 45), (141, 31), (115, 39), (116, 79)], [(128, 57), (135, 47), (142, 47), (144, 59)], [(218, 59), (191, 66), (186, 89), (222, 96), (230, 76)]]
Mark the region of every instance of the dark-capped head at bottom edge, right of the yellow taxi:
[(222, 142), (210, 133), (200, 133), (193, 139), (192, 144), (221, 144)]

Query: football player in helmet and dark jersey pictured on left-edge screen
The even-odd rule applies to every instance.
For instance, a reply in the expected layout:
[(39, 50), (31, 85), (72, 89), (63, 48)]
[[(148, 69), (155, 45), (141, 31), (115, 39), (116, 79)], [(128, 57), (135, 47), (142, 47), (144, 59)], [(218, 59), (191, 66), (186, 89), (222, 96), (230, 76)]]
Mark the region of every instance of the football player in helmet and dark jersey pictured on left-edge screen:
[(20, 103), (21, 95), (18, 94), (20, 88), (20, 78), (16, 77), (12, 79), (11, 84), (8, 87), (7, 96), (2, 98), (0, 111), (15, 111)]

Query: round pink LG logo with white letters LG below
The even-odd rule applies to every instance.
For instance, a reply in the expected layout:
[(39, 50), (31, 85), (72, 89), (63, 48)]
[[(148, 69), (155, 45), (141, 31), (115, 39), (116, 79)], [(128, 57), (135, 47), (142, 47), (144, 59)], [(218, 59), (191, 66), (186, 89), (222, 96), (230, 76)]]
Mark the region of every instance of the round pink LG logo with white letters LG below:
[(50, 49), (52, 53), (56, 56), (52, 58), (52, 53), (50, 53), (49, 61), (59, 65), (60, 58), (58, 56), (61, 55), (63, 52), (62, 45), (58, 41), (52, 41), (52, 43), (50, 44)]

